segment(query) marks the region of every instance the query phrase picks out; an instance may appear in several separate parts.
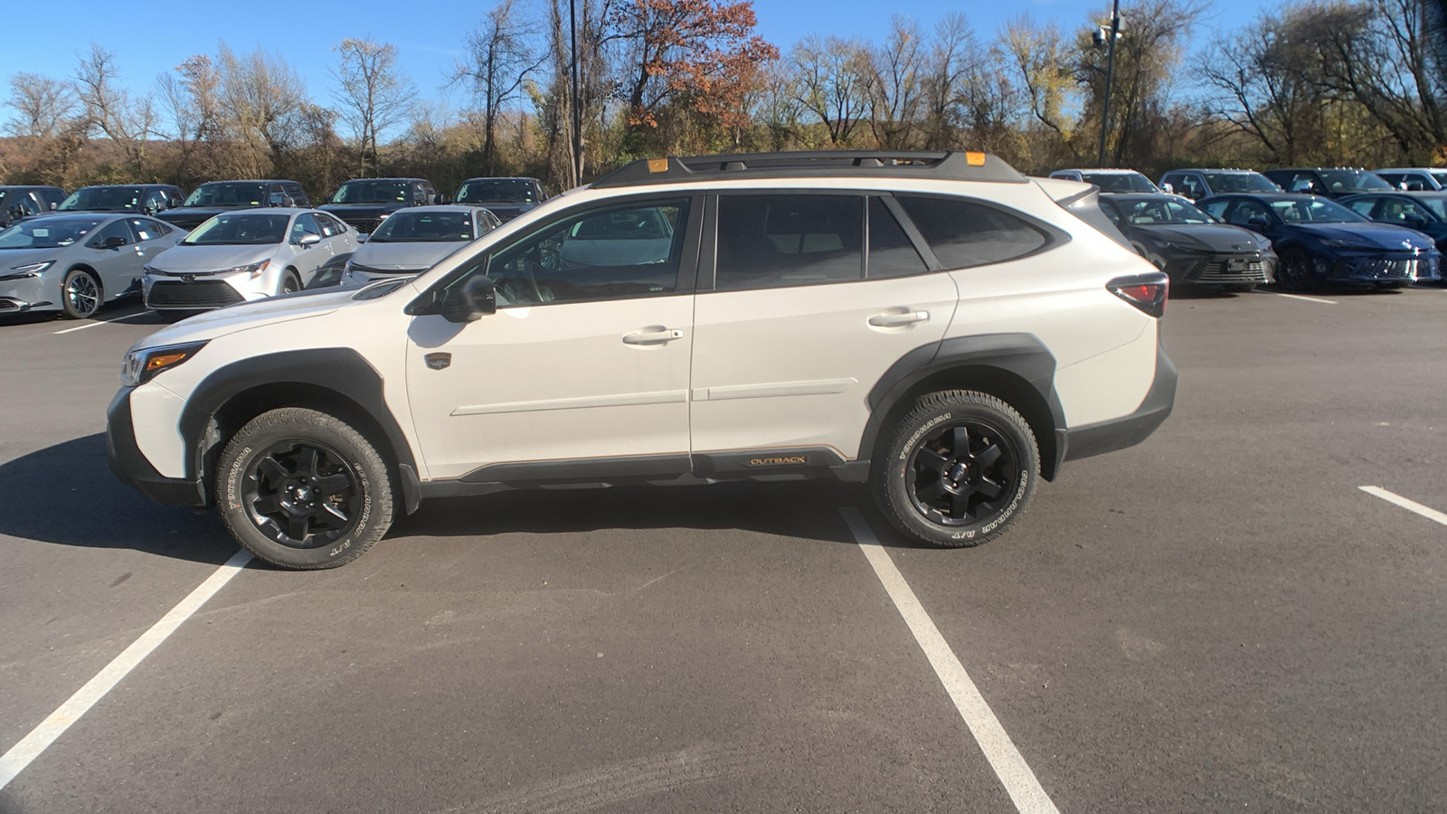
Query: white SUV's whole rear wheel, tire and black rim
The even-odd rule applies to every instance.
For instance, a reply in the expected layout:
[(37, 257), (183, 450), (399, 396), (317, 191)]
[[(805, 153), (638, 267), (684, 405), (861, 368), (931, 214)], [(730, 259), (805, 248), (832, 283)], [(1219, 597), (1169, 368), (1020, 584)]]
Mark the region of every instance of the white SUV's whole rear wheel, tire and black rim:
[(943, 547), (1003, 534), (1035, 495), (1040, 452), (1030, 424), (969, 390), (919, 398), (881, 445), (874, 497), (904, 536)]

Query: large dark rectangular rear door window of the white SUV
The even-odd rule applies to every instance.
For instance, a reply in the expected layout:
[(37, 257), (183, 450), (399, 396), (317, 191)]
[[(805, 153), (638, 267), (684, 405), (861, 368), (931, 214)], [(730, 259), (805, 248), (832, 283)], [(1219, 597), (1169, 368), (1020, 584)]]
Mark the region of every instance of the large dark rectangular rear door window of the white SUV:
[(722, 196), (713, 288), (864, 278), (864, 196)]

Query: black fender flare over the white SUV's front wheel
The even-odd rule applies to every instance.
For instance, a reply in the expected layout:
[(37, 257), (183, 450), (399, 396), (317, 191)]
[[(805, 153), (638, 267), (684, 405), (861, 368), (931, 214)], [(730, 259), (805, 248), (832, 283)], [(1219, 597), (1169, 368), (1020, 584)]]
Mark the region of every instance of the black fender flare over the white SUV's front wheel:
[[(249, 390), (285, 385), (313, 394), (331, 391), (363, 411), (376, 430), (385, 436), (376, 439), (385, 440), (388, 446), (379, 452), (401, 468), (398, 477), (404, 491), (415, 491), (417, 462), (407, 436), (402, 435), (401, 424), (386, 406), (382, 374), (350, 348), (311, 348), (263, 353), (237, 359), (207, 374), (187, 397), (185, 407), (181, 410), (181, 436), (188, 449), (192, 450), (187, 459), (185, 477), (191, 479), (205, 478), (207, 455), (226, 440), (210, 436), (218, 433), (217, 416), (233, 398)], [(359, 429), (365, 430), (365, 427)], [(407, 497), (410, 498), (407, 503), (415, 508), (412, 495)]]

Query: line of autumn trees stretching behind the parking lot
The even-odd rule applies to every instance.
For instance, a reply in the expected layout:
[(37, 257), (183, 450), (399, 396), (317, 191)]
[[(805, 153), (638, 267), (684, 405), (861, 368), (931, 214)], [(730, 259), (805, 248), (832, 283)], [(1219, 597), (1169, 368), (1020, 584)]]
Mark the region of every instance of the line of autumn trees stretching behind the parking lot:
[[(1127, 0), (1107, 164), (1444, 164), (1444, 3), (1307, 0), (1213, 33), (1205, 0)], [(894, 16), (878, 41), (809, 35), (787, 51), (755, 26), (750, 0), (498, 0), (449, 77), (466, 90), (460, 110), (420, 93), (396, 48), (373, 39), (333, 48), (324, 100), (262, 49), (221, 43), (136, 90), (91, 45), (68, 77), (9, 77), (0, 175), (67, 188), (281, 177), (321, 197), (366, 175), (444, 190), (532, 175), (561, 190), (667, 154), (968, 148), (1029, 172), (1095, 162), (1108, 10), (1074, 29), (1022, 14), (993, 36), (961, 13)]]

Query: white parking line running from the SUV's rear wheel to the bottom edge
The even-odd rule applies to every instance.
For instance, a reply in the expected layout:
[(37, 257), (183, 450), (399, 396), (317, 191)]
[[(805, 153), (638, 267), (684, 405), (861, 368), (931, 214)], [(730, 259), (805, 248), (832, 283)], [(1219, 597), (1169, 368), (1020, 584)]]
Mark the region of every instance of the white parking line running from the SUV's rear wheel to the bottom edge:
[(1040, 781), (1035, 779), (1035, 772), (1030, 771), (1020, 750), (1014, 747), (1014, 742), (1000, 726), (1000, 718), (996, 718), (990, 704), (980, 694), (980, 688), (965, 672), (965, 666), (959, 663), (955, 652), (949, 649), (949, 643), (935, 627), (935, 621), (925, 613), (925, 605), (919, 604), (915, 591), (894, 566), (894, 561), (880, 545), (880, 539), (874, 536), (874, 530), (870, 529), (864, 516), (852, 507), (841, 508), (839, 514), (848, 523), (854, 542), (860, 543), (860, 550), (874, 566), (874, 574), (884, 585), (884, 591), (894, 601), (900, 616), (904, 617), (904, 624), (909, 626), (915, 640), (925, 650), (925, 658), (935, 668), (935, 675), (945, 685), (945, 692), (949, 692), (949, 698), (959, 710), (959, 717), (965, 720), (969, 733), (975, 736), (975, 743), (985, 753), (985, 760), (990, 760), (990, 768), (1004, 784), (1016, 810), (1022, 814), (1059, 814), (1059, 810), (1051, 802), (1051, 797), (1040, 786)]

